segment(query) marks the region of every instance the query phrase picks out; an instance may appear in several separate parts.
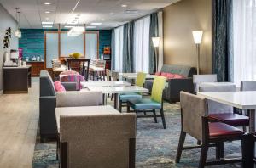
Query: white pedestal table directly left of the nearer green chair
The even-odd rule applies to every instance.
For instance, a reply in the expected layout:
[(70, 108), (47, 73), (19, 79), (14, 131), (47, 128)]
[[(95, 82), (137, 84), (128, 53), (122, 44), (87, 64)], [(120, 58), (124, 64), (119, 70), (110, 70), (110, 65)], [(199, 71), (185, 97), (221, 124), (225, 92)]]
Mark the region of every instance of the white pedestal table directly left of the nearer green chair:
[[(148, 92), (148, 89), (138, 86), (130, 87), (88, 87), (90, 91), (101, 91), (105, 94), (114, 94), (114, 108), (118, 107), (118, 95), (121, 93)], [(105, 98), (104, 98), (105, 101)]]

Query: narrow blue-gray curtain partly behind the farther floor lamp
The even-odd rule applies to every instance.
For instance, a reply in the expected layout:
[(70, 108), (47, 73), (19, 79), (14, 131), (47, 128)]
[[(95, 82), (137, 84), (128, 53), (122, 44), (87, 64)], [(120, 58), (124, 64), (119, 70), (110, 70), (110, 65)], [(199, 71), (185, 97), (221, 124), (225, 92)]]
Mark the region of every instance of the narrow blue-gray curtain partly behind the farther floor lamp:
[(155, 52), (155, 48), (152, 42), (152, 37), (159, 36), (159, 27), (158, 27), (158, 14), (150, 14), (150, 29), (149, 29), (149, 73), (156, 72), (156, 57), (158, 58), (158, 54)]

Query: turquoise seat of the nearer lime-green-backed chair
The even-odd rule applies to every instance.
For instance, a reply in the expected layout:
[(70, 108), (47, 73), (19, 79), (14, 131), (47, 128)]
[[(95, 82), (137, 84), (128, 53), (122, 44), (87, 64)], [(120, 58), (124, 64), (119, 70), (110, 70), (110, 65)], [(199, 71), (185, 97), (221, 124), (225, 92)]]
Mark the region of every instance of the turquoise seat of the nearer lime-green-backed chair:
[(151, 99), (131, 99), (129, 104), (132, 109), (161, 109), (161, 104)]

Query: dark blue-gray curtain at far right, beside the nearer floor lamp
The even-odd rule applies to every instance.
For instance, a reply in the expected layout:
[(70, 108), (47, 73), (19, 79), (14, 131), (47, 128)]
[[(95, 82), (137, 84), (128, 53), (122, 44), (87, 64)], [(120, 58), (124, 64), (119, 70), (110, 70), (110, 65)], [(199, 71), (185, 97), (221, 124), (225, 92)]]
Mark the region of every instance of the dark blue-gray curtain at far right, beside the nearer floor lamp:
[(218, 81), (233, 81), (232, 0), (214, 0), (212, 72)]

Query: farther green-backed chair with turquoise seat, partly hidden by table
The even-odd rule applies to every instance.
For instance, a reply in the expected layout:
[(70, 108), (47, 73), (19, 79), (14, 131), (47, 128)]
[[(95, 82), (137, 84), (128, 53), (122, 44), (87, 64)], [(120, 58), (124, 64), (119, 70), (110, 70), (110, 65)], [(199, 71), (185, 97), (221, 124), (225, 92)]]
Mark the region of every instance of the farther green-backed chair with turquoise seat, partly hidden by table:
[[(146, 81), (146, 73), (138, 72), (137, 79), (135, 84), (138, 87), (143, 87)], [(141, 99), (143, 98), (143, 94), (141, 93), (126, 93), (126, 94), (119, 94), (119, 112), (122, 112), (122, 107), (125, 107), (128, 100), (132, 99)]]

